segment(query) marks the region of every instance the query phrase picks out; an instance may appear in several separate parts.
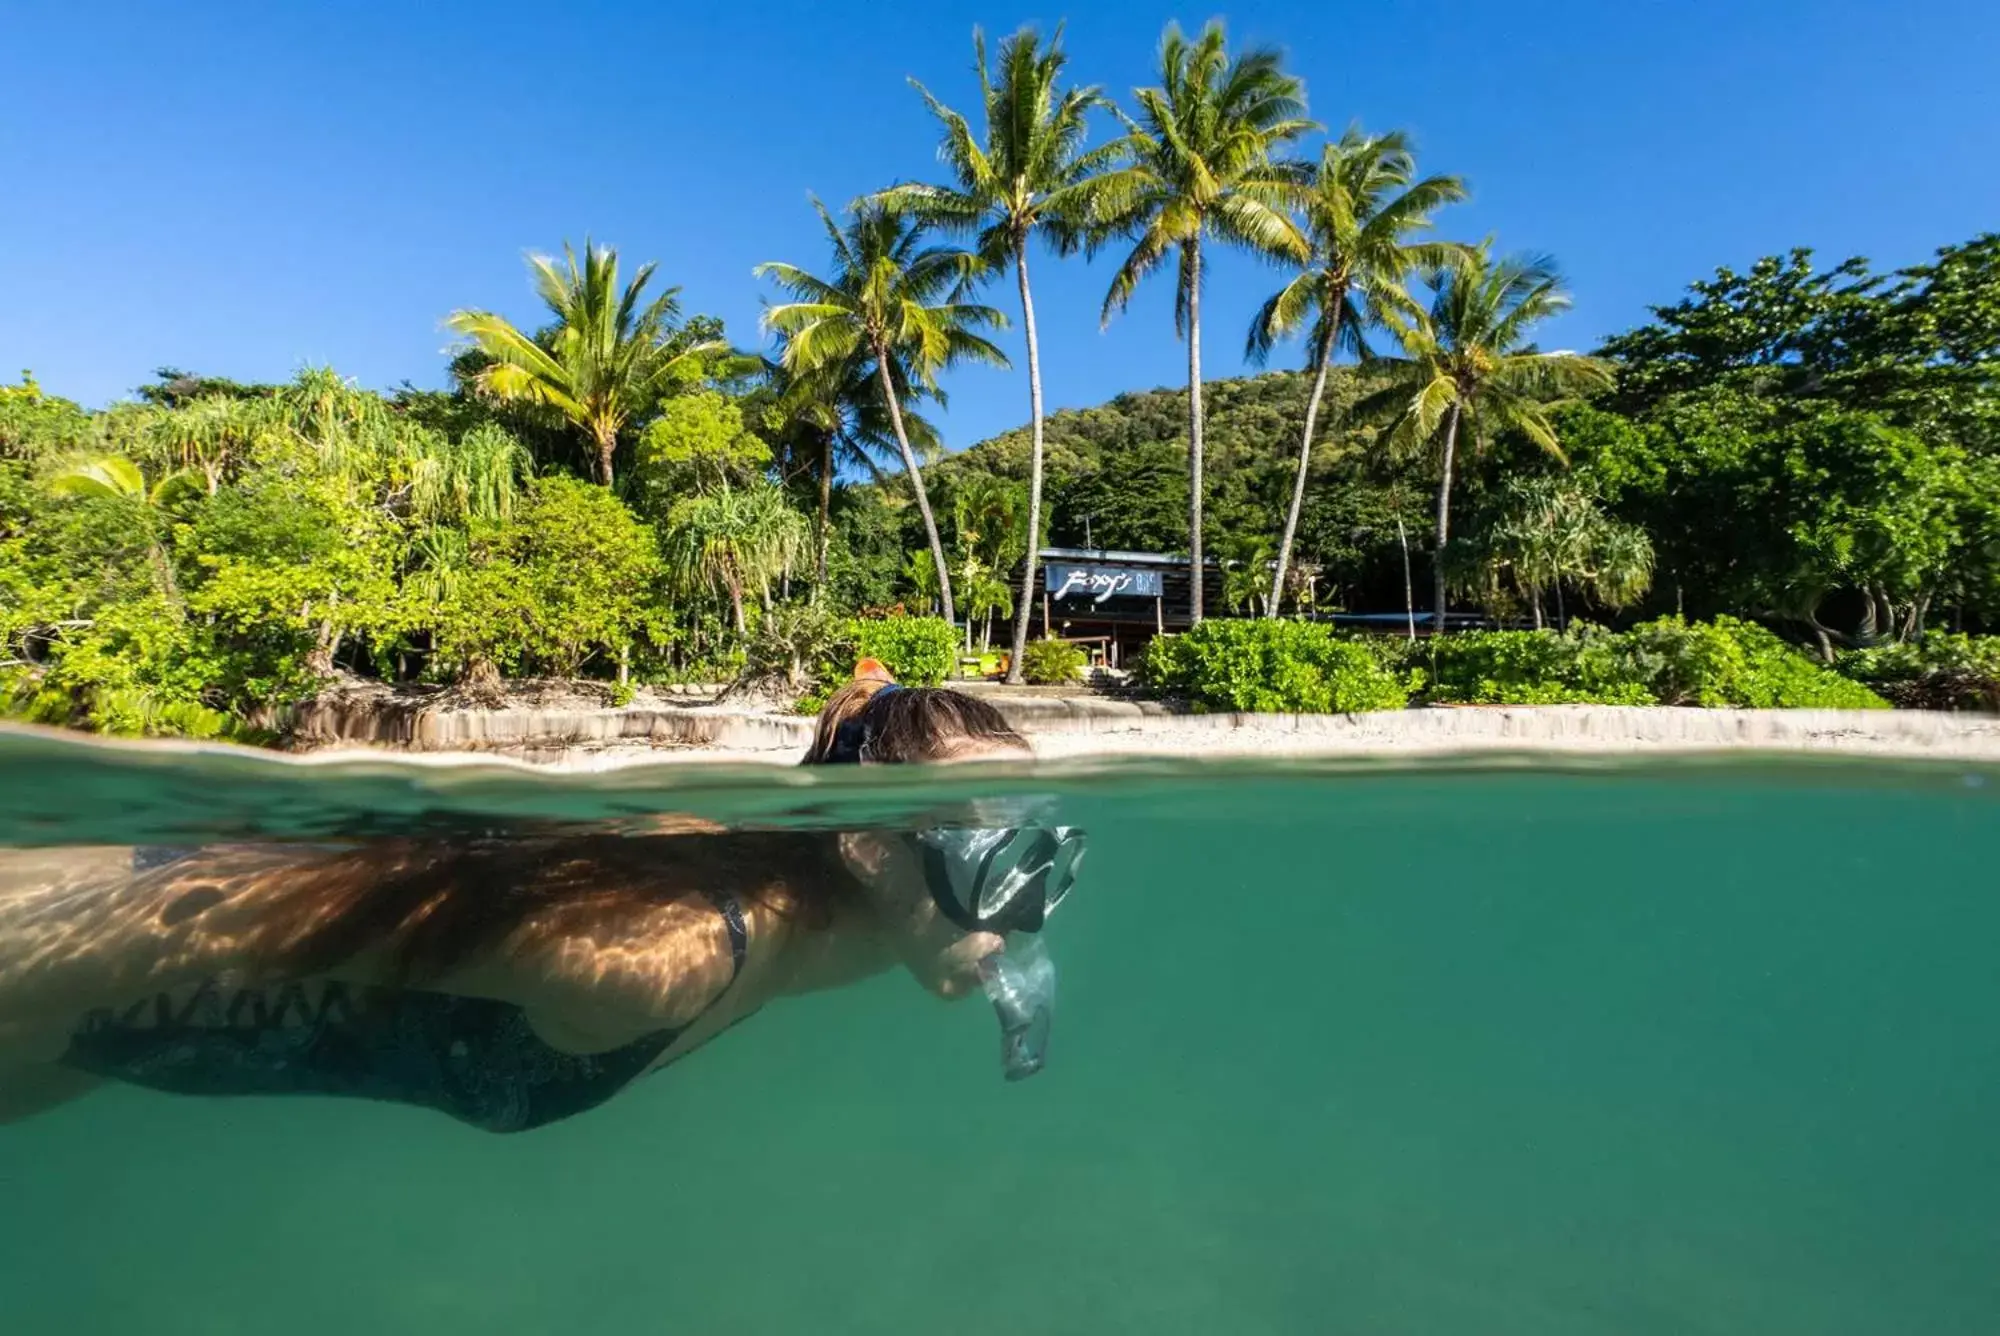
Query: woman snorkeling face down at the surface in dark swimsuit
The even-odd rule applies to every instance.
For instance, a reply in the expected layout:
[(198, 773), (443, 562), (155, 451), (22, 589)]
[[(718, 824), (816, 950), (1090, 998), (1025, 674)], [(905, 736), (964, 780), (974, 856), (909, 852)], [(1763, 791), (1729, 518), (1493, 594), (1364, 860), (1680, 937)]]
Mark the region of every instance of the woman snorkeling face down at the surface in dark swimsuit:
[[(1026, 754), (990, 704), (864, 662), (806, 764)], [(520, 1132), (772, 998), (896, 964), (944, 998), (984, 988), (1018, 1078), (1042, 1062), (1052, 988), (1020, 944), (1074, 882), (1082, 836), (1000, 820), (138, 850), (78, 888), (16, 870), (0, 1122), (126, 1082), (392, 1100)]]

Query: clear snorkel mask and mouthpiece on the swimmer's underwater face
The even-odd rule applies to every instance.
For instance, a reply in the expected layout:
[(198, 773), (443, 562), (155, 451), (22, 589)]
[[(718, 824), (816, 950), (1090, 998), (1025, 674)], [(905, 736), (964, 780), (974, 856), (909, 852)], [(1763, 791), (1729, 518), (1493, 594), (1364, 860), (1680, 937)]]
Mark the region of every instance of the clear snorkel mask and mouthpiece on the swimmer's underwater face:
[(902, 836), (922, 858), (938, 912), (966, 932), (1016, 934), (980, 962), (1000, 1022), (1000, 1070), (1026, 1080), (1048, 1062), (1056, 964), (1042, 924), (1076, 884), (1084, 832), (1074, 826), (938, 826)]

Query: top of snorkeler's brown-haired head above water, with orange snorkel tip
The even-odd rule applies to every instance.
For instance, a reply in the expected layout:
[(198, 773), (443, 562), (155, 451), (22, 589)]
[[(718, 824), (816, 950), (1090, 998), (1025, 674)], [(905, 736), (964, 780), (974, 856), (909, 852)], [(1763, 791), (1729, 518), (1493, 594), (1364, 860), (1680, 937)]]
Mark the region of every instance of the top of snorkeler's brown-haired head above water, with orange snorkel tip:
[(896, 686), (864, 658), (820, 710), (808, 766), (910, 764), (1028, 756), (1028, 740), (984, 700), (930, 686)]

